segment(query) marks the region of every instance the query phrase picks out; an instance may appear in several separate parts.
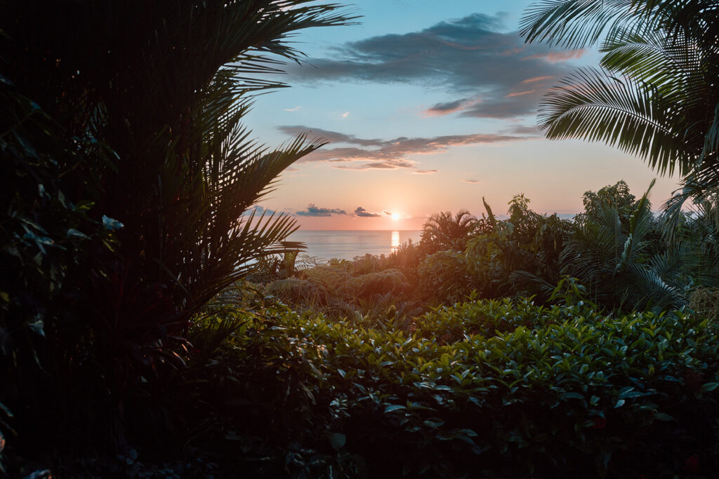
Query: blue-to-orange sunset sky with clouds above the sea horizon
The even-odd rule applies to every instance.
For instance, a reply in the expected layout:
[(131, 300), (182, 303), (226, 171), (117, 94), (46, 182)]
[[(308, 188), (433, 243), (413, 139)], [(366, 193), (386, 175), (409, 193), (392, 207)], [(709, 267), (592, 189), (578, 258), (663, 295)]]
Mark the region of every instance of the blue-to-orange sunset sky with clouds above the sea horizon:
[(504, 213), (523, 193), (540, 213), (573, 215), (582, 194), (625, 180), (659, 209), (677, 178), (604, 144), (549, 141), (536, 129), (546, 90), (595, 50), (526, 45), (528, 0), (360, 0), (359, 24), (292, 39), (291, 88), (257, 97), (247, 126), (269, 147), (299, 134), (327, 144), (283, 172), (257, 205), (303, 230), (418, 230), (482, 197)]

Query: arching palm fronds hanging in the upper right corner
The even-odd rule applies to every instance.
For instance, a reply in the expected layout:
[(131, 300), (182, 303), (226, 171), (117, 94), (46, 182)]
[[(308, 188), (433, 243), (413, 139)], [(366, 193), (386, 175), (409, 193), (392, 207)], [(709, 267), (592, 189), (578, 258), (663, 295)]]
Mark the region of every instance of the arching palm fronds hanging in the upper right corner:
[(684, 188), (667, 203), (719, 187), (719, 4), (712, 0), (543, 0), (521, 22), (527, 42), (600, 43), (601, 68), (580, 68), (546, 94), (550, 139), (603, 141)]

